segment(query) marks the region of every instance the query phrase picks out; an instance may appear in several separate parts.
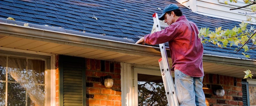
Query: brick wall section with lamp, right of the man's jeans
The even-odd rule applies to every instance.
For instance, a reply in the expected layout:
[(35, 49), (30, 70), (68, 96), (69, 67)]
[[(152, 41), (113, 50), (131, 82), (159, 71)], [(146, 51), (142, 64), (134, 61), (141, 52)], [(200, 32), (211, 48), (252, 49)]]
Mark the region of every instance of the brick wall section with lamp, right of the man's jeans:
[[(205, 74), (203, 79), (203, 90), (207, 106), (243, 106), (242, 79)], [(223, 97), (213, 94), (212, 87), (220, 85), (225, 90)]]

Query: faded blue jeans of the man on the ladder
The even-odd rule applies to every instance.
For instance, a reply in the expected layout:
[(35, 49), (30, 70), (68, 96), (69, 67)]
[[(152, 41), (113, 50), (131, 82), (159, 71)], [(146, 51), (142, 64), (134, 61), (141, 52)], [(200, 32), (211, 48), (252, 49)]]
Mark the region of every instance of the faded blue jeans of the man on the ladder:
[(180, 70), (174, 71), (175, 90), (180, 106), (206, 106), (203, 91), (204, 77), (190, 77)]

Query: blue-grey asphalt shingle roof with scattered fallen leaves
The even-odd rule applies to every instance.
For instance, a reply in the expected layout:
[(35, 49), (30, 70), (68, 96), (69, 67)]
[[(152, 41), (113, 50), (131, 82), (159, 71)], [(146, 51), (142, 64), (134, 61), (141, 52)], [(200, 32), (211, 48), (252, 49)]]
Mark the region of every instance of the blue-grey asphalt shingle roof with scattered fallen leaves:
[[(230, 29), (241, 23), (191, 12), (175, 0), (1, 0), (0, 18), (12, 17), (16, 21), (137, 41), (151, 32), (152, 14), (160, 15), (168, 4), (179, 5), (183, 15), (195, 22), (199, 29), (215, 30), (220, 26)], [(214, 48), (211, 44), (204, 44), (204, 50), (234, 55), (243, 52)], [(256, 50), (247, 53), (252, 54), (251, 59), (256, 59)]]

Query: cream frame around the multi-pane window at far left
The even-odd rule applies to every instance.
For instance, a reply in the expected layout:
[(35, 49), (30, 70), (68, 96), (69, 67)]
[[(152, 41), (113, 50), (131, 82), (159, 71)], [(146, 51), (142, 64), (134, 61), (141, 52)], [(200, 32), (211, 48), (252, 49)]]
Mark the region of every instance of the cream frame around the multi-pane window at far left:
[[(43, 56), (43, 55), (36, 55), (36, 54), (28, 54), (28, 53), (20, 53), (20, 52), (13, 52), (13, 51), (5, 51), (0, 50), (0, 56), (7, 57), (18, 57), (18, 58), (26, 58), (26, 61), (28, 59), (34, 59), (34, 60), (42, 60), (44, 61), (44, 85), (45, 85), (45, 104), (44, 106), (50, 106), (51, 105), (51, 57), (50, 56)], [(8, 63), (7, 63), (8, 64)], [(27, 65), (27, 64), (26, 64)], [(8, 66), (7, 66), (8, 67)], [(27, 67), (27, 66), (26, 66)], [(6, 76), (8, 77), (8, 76)], [(5, 82), (6, 84), (9, 82), (8, 80), (0, 81)], [(7, 89), (7, 88), (6, 88)], [(8, 92), (7, 90), (5, 92)], [(7, 105), (7, 93), (5, 94), (5, 105)]]

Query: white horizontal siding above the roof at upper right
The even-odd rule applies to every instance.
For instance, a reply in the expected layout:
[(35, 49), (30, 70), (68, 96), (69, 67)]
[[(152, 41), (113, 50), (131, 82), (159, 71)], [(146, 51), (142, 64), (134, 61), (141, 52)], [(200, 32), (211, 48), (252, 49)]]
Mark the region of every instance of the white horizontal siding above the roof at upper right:
[[(187, 7), (196, 6), (192, 8), (192, 11), (197, 11), (205, 14), (210, 14), (214, 16), (225, 17), (228, 19), (235, 19), (235, 20), (243, 20), (246, 21), (246, 16), (242, 13), (255, 13), (251, 12), (251, 9), (242, 8), (237, 10), (229, 10), (231, 8), (237, 8), (236, 5), (247, 5), (245, 3), (232, 3), (232, 4), (223, 4), (219, 1), (221, 0), (177, 0), (178, 2), (182, 2), (183, 5)], [(189, 2), (193, 1), (196, 4), (191, 5)], [(228, 1), (228, 3), (230, 3)], [(239, 13), (240, 12), (240, 13)], [(255, 22), (255, 14), (248, 14), (247, 16), (252, 16), (252, 22)]]

